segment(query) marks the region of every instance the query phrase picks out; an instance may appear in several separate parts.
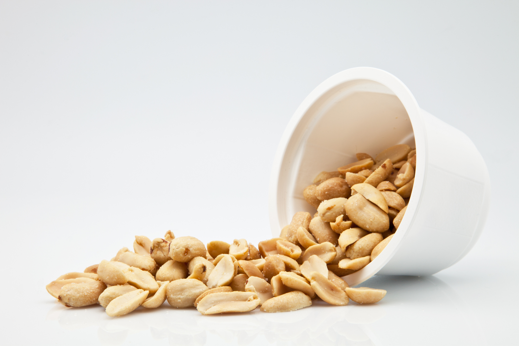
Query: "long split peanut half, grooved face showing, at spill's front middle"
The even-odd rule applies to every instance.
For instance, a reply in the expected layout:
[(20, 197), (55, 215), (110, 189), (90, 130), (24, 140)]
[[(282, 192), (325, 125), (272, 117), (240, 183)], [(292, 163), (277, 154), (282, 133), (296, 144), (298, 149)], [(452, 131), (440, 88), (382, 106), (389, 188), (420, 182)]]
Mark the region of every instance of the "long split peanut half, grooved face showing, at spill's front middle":
[(197, 310), (203, 315), (227, 312), (247, 312), (260, 305), (260, 298), (254, 292), (221, 292), (203, 297)]

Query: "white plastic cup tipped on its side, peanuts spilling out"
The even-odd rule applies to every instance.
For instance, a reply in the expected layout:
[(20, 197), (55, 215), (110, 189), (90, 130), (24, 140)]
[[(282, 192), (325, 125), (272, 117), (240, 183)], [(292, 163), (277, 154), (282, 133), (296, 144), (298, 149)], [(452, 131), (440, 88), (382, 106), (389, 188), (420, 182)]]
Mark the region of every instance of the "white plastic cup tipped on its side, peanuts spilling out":
[(474, 143), (420, 109), (397, 77), (372, 67), (326, 79), (297, 108), (281, 137), (270, 177), (272, 236), (299, 211), (316, 210), (303, 190), (321, 171), (376, 155), (395, 144), (416, 147), (413, 193), (398, 231), (363, 269), (344, 277), (355, 286), (375, 274), (432, 275), (474, 246), (485, 225), (490, 181)]

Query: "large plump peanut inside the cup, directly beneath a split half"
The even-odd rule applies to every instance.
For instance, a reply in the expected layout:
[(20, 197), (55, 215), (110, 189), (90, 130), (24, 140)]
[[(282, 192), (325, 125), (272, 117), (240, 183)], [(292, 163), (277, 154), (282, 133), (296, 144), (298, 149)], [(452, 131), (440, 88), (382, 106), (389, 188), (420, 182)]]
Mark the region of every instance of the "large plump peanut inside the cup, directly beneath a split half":
[(378, 233), (389, 229), (388, 214), (375, 203), (365, 199), (360, 193), (348, 199), (348, 202), (345, 204), (345, 210), (350, 220), (362, 229)]

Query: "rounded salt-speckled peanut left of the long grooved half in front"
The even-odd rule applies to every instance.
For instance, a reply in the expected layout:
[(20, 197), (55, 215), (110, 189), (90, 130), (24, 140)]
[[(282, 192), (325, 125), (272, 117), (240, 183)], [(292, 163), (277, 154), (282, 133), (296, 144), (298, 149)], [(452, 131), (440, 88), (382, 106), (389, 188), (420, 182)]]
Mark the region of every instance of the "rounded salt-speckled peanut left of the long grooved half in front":
[(173, 308), (187, 308), (192, 307), (196, 298), (208, 289), (199, 280), (180, 279), (168, 284), (166, 297)]

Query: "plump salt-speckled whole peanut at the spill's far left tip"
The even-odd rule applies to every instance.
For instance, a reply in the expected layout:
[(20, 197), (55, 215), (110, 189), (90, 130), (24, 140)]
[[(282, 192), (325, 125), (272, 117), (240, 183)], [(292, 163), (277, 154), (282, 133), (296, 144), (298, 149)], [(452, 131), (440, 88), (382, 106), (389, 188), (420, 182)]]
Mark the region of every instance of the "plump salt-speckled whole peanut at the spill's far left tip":
[(105, 288), (104, 282), (99, 280), (66, 284), (61, 287), (58, 300), (66, 307), (78, 308), (97, 304), (99, 295)]

